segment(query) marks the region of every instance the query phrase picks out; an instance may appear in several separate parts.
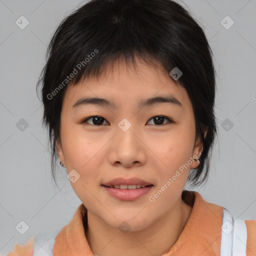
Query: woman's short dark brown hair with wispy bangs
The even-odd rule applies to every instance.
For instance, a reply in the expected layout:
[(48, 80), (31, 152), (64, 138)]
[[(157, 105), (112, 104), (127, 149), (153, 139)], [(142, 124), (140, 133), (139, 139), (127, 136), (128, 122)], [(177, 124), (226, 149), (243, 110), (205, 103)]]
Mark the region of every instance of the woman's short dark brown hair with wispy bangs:
[(167, 73), (174, 67), (181, 70), (177, 81), (192, 102), (195, 137), (203, 144), (199, 166), (189, 173), (187, 181), (197, 186), (206, 180), (217, 131), (216, 72), (203, 29), (173, 0), (91, 0), (71, 12), (57, 27), (36, 86), (42, 85), (42, 124), (48, 128), (55, 183), (56, 162), (59, 166), (55, 143), (60, 140), (60, 112), (67, 86), (84, 78), (98, 79), (108, 64), (121, 57), (126, 64), (130, 60), (135, 64), (135, 56), (148, 65), (160, 63)]

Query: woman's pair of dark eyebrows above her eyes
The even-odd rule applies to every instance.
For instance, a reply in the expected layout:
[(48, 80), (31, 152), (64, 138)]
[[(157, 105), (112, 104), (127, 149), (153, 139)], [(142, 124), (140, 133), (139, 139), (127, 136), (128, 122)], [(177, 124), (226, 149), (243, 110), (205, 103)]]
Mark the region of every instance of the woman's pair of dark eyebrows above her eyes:
[[(147, 99), (142, 99), (138, 102), (138, 108), (142, 108), (144, 106), (151, 106), (157, 103), (170, 103), (172, 105), (177, 105), (182, 107), (181, 102), (176, 99), (174, 96), (156, 96), (156, 97), (151, 97)], [(100, 105), (100, 106), (107, 106), (111, 108), (116, 108), (116, 105), (114, 102), (109, 101), (104, 98), (98, 98), (98, 97), (83, 97), (78, 99), (75, 104), (72, 106), (73, 108), (84, 106), (87, 104), (94, 104), (94, 105)]]

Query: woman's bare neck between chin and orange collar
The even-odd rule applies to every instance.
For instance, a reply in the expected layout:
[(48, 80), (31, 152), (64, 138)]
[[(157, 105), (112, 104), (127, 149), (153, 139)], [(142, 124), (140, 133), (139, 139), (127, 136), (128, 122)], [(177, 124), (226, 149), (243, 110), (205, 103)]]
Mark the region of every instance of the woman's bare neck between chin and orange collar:
[(88, 225), (85, 230), (86, 239), (93, 254), (100, 256), (160, 256), (168, 252), (177, 241), (191, 210), (192, 207), (180, 198), (173, 205), (171, 211), (168, 211), (150, 226), (124, 234), (120, 230), (110, 227), (88, 211)]

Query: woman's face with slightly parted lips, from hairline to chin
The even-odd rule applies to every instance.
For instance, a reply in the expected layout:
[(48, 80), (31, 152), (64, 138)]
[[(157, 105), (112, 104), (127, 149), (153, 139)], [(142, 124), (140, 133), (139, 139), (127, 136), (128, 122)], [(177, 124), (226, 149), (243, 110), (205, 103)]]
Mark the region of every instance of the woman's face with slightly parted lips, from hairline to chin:
[[(189, 169), (198, 165), (191, 159), (200, 149), (194, 144), (195, 121), (185, 89), (161, 69), (138, 59), (137, 64), (135, 72), (121, 61), (98, 81), (91, 78), (67, 88), (58, 144), (59, 159), (88, 214), (116, 229), (126, 221), (131, 231), (149, 226), (178, 205)], [(153, 97), (173, 97), (180, 104), (147, 101)], [(102, 100), (82, 103), (83, 98)], [(118, 177), (151, 185), (127, 190), (103, 185), (129, 183), (107, 184)]]

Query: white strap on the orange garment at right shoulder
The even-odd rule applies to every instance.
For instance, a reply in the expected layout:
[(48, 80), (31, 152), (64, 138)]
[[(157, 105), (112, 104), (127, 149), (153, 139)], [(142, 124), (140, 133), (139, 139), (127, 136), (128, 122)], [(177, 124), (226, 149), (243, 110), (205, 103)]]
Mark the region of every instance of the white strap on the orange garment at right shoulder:
[(246, 256), (247, 228), (244, 220), (223, 210), (220, 256)]

